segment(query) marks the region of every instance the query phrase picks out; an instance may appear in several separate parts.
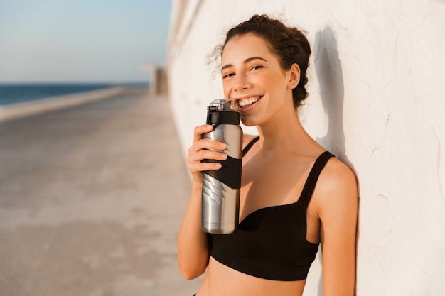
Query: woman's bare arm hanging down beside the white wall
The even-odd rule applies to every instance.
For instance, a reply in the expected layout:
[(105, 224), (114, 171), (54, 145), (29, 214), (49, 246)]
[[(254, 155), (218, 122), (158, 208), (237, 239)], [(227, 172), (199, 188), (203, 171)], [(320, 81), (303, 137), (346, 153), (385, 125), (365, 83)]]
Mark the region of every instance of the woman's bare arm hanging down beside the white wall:
[(355, 175), (332, 158), (320, 175), (323, 296), (355, 295), (358, 189)]

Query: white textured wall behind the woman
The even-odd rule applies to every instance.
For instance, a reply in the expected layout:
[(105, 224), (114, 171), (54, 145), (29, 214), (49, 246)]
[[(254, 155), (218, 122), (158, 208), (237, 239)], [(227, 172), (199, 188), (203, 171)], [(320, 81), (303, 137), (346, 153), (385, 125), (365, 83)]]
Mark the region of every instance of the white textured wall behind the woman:
[[(182, 2), (168, 75), (184, 155), (223, 96), (205, 56), (252, 13), (284, 17), (313, 49), (304, 126), (358, 176), (357, 295), (445, 295), (445, 1)], [(305, 295), (320, 277), (318, 258)]]

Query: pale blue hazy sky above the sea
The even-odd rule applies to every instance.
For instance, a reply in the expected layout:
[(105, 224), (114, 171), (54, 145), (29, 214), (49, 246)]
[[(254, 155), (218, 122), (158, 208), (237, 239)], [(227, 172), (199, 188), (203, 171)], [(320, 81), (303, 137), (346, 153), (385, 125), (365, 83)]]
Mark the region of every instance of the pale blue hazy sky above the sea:
[(0, 0), (0, 84), (148, 82), (166, 64), (169, 0)]

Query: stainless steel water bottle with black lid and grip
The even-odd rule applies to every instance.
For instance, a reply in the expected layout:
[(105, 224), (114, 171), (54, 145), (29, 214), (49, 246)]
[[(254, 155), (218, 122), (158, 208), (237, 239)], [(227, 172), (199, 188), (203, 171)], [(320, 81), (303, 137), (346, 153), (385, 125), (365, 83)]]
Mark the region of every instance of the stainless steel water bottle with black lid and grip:
[(221, 163), (219, 170), (203, 174), (201, 228), (212, 234), (230, 234), (238, 226), (240, 212), (242, 129), (240, 113), (229, 99), (215, 99), (207, 107), (207, 124), (213, 131), (203, 138), (227, 144), (227, 160), (203, 160)]

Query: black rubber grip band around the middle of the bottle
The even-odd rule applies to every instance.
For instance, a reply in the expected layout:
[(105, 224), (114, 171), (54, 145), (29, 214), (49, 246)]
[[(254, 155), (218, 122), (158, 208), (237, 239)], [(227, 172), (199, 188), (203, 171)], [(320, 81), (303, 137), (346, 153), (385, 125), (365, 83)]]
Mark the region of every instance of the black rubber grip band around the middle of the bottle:
[(204, 173), (216, 180), (223, 182), (232, 189), (241, 188), (241, 165), (242, 159), (227, 156), (226, 160), (205, 159), (204, 163), (220, 163), (219, 170), (206, 170)]

